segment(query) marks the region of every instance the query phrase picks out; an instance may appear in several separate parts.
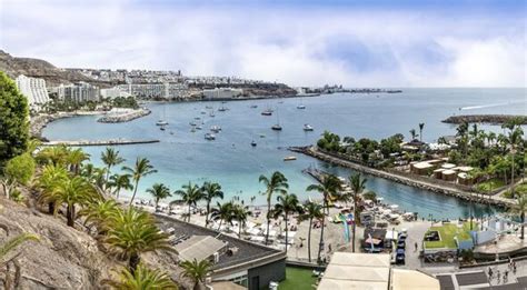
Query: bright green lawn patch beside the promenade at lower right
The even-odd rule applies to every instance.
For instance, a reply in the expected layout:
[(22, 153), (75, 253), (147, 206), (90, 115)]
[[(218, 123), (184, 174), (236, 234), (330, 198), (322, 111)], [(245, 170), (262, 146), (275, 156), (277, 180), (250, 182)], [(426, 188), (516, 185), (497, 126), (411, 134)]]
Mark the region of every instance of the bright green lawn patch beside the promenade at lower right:
[[(477, 228), (477, 223), (473, 222), (473, 229)], [(425, 248), (427, 249), (435, 249), (435, 248), (448, 248), (448, 249), (457, 249), (456, 241), (454, 240), (455, 237), (458, 240), (469, 240), (470, 239), (470, 221), (467, 221), (463, 224), (463, 228), (458, 228), (456, 224), (453, 223), (445, 223), (440, 227), (431, 227), (428, 231), (438, 231), (440, 240), (439, 241), (425, 241)]]

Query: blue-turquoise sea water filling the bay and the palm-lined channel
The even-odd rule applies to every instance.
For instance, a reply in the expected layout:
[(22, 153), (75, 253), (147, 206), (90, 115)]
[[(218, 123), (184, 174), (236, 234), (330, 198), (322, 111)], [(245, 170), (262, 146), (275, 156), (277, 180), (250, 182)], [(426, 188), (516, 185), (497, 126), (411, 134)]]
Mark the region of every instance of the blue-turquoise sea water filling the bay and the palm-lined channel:
[[(300, 102), (307, 107), (305, 110), (296, 108)], [(252, 104), (258, 108), (250, 108)], [(280, 170), (289, 179), (291, 192), (302, 198), (316, 198), (317, 193), (305, 191), (314, 180), (305, 176), (302, 169), (316, 166), (340, 176), (351, 173), (351, 170), (329, 167), (296, 153), (298, 160), (282, 161), (284, 157), (294, 154), (286, 150), (287, 147), (314, 143), (324, 130), (377, 139), (400, 132), (409, 138), (408, 131), (411, 128), (417, 130), (418, 123), (425, 122), (424, 139), (432, 141), (439, 136), (455, 133), (454, 126), (440, 122), (451, 114), (525, 114), (527, 111), (525, 89), (405, 89), (404, 93), (394, 94), (231, 101), (225, 104), (229, 111), (217, 111), (215, 118), (200, 114), (206, 106), (218, 109), (221, 103), (151, 103), (150, 116), (117, 124), (98, 123), (97, 117), (62, 119), (49, 124), (43, 136), (50, 140), (160, 139), (160, 143), (118, 148), (129, 164), (137, 157), (147, 157), (159, 171), (141, 182), (141, 197), (148, 198), (142, 192), (153, 182), (163, 182), (175, 190), (189, 180), (198, 183), (211, 180), (220, 182), (229, 198), (239, 196), (248, 202), (250, 197), (256, 196), (256, 203), (262, 203), (265, 199), (259, 192), (264, 188), (258, 183), (260, 174)], [(260, 114), (268, 107), (277, 110), (282, 131), (270, 129), (277, 122), (277, 113), (272, 117)], [(155, 122), (163, 116), (170, 124), (166, 131), (160, 131)], [(195, 121), (195, 117), (202, 118), (205, 124), (202, 131), (192, 133), (189, 122)], [(315, 131), (305, 132), (305, 123), (315, 127)], [(222, 131), (215, 141), (207, 141), (203, 134), (213, 124), (221, 126)], [(499, 127), (485, 128), (501, 130)], [(255, 148), (250, 146), (252, 140), (258, 142)], [(92, 156), (92, 161), (100, 164), (99, 156), (103, 148), (84, 149)], [(367, 188), (382, 196), (387, 202), (417, 211), (421, 217), (458, 218), (470, 212), (467, 202), (384, 179), (368, 177)], [(493, 213), (493, 209), (486, 206), (474, 208), (478, 213)]]

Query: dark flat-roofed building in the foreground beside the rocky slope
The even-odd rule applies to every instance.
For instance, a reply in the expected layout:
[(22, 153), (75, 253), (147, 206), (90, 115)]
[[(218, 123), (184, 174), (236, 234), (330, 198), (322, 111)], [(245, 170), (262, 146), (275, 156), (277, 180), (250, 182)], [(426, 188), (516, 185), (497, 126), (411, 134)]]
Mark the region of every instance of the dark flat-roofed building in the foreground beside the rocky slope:
[(157, 214), (159, 227), (170, 234), (179, 259), (212, 262), (209, 283), (231, 281), (249, 290), (268, 289), (286, 279), (286, 253), (262, 244)]

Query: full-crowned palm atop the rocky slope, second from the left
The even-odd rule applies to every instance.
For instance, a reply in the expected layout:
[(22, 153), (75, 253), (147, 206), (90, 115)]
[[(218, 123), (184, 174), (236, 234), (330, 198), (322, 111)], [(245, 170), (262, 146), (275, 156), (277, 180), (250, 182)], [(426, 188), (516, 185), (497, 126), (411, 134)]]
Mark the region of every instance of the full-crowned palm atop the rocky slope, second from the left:
[[(46, 196), (43, 198), (47, 198)], [(100, 196), (93, 186), (84, 178), (72, 177), (59, 182), (49, 198), (54, 200), (58, 204), (66, 204), (67, 224), (74, 227), (74, 220), (77, 218), (76, 204), (88, 204), (96, 201)], [(54, 212), (57, 212), (57, 210), (58, 208), (56, 207)]]

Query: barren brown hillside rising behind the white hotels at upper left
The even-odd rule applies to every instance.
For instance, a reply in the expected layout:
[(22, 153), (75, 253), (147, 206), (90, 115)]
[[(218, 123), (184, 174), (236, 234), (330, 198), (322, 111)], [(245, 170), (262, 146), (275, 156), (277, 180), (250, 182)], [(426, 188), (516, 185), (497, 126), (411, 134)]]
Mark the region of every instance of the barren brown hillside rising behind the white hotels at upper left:
[(59, 69), (41, 59), (12, 57), (3, 50), (0, 50), (0, 70), (13, 79), (19, 74), (42, 78), (51, 87), (76, 81), (86, 81), (96, 86), (108, 87), (108, 84), (86, 77), (80, 72)]

